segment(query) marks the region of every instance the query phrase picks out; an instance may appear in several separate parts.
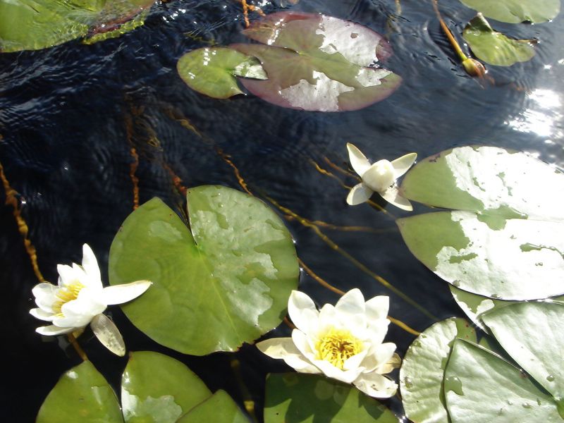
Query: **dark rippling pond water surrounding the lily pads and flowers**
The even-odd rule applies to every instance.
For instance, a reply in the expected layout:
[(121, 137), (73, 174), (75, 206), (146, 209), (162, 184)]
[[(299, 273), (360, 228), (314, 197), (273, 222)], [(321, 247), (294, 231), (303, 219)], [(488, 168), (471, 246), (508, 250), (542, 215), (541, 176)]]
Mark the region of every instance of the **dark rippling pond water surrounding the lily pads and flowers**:
[[(264, 1), (264, 11), (280, 8)], [(486, 144), (525, 150), (564, 166), (564, 19), (541, 25), (503, 25), (514, 37), (535, 37), (537, 56), (510, 68), (489, 69), (494, 82), (468, 78), (458, 66), (428, 1), (302, 0), (294, 10), (353, 20), (390, 40), (388, 68), (403, 85), (384, 102), (341, 114), (281, 109), (257, 97), (215, 100), (188, 89), (176, 61), (208, 44), (243, 42), (240, 5), (235, 1), (171, 1), (157, 4), (145, 26), (118, 39), (82, 45), (68, 42), (42, 51), (0, 54), (0, 161), (20, 193), (22, 214), (37, 248), (39, 268), (56, 282), (56, 264), (80, 262), (81, 245), (96, 252), (107, 281), (111, 240), (132, 211), (130, 147), (140, 155), (140, 200), (154, 196), (169, 204), (180, 197), (171, 169), (192, 187), (221, 184), (238, 188), (231, 156), (257, 194), (268, 195), (312, 221), (364, 226), (365, 231), (320, 227), (343, 250), (386, 278), (438, 319), (462, 316), (447, 284), (419, 264), (405, 247), (394, 217), (368, 207), (348, 207), (344, 183), (352, 178), (331, 169), (326, 159), (347, 166), (346, 142), (372, 159), (419, 157), (457, 145)], [(461, 32), (474, 13), (458, 0), (441, 1), (448, 25)], [(202, 134), (181, 125), (185, 119)], [(0, 202), (4, 202), (0, 192)], [(415, 205), (415, 212), (424, 207)], [(0, 319), (4, 348), (1, 410), (10, 421), (30, 422), (59, 376), (78, 364), (72, 349), (35, 333), (28, 314), (37, 283), (17, 231), (11, 207), (0, 208)], [(311, 229), (288, 221), (298, 255), (319, 276), (343, 290), (358, 287), (367, 298), (390, 295), (390, 314), (422, 331), (433, 319), (391, 293), (349, 259), (332, 250)], [(319, 303), (337, 295), (306, 274), (300, 289)], [(250, 396), (262, 410), (264, 376), (284, 371), (249, 345), (235, 355), (188, 357), (159, 346), (130, 324), (118, 307), (111, 314), (130, 350), (159, 350), (182, 360), (212, 391), (226, 389), (240, 403), (240, 381), (231, 359), (241, 362)], [(277, 329), (287, 336), (286, 326)], [(388, 340), (403, 355), (413, 336), (391, 325)], [(118, 386), (126, 359), (109, 357), (86, 333), (81, 342), (94, 364)], [(68, 354), (68, 355), (67, 355)], [(397, 379), (397, 375), (396, 375)], [(398, 415), (397, 398), (384, 401)]]

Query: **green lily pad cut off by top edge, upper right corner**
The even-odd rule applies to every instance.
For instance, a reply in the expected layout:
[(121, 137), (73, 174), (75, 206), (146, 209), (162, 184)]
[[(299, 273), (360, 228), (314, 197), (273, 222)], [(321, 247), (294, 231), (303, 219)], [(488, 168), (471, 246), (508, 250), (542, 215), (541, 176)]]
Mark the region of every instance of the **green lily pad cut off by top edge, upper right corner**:
[(546, 22), (560, 13), (560, 0), (460, 0), (488, 18), (507, 23)]

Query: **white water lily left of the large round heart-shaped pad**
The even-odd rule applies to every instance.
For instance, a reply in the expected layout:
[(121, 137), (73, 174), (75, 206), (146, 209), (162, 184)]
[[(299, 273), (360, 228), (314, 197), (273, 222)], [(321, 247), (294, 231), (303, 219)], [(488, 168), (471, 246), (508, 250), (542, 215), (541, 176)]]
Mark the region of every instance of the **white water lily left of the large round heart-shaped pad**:
[(32, 290), (37, 308), (31, 309), (30, 314), (51, 322), (49, 326), (40, 326), (35, 331), (54, 336), (81, 331), (90, 324), (106, 348), (117, 355), (124, 355), (121, 333), (114, 322), (102, 313), (109, 305), (137, 298), (151, 286), (151, 282), (136, 281), (104, 288), (98, 262), (87, 244), (82, 247), (82, 266), (59, 264), (57, 271), (59, 286), (44, 282)]

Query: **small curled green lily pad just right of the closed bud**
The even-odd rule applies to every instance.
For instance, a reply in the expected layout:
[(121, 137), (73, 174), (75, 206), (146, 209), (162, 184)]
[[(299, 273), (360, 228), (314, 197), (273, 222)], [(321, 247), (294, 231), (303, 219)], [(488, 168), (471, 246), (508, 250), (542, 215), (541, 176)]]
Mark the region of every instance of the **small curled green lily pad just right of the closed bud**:
[(462, 37), (478, 59), (491, 65), (511, 66), (531, 60), (534, 56), (534, 40), (505, 37), (492, 29), (482, 13), (470, 20)]

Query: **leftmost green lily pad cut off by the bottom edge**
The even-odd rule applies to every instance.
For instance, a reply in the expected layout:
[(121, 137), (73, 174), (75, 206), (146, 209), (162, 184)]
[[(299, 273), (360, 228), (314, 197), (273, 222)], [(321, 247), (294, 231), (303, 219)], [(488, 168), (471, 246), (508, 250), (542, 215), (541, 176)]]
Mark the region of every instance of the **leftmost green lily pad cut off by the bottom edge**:
[(123, 423), (118, 398), (91, 362), (73, 367), (61, 376), (45, 398), (37, 423)]

